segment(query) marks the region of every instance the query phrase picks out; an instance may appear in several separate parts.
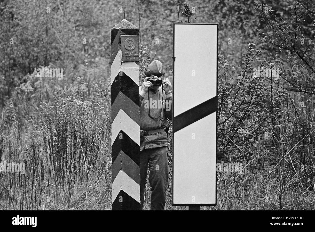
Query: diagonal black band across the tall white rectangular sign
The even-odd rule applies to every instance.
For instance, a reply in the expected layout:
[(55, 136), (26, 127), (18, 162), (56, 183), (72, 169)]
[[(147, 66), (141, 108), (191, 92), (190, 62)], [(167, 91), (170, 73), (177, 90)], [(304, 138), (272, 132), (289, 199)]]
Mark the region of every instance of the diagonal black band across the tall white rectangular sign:
[(181, 113), (173, 119), (173, 132), (179, 131), (182, 128), (204, 118), (205, 116), (214, 113), (217, 111), (217, 108), (218, 98), (215, 96), (214, 98), (211, 98), (191, 108), (190, 110)]

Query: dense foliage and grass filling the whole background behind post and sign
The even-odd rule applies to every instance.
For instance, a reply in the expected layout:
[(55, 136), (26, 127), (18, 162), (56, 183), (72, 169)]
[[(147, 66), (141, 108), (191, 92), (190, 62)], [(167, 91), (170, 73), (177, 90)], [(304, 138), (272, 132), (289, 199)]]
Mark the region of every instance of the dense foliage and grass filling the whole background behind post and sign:
[(218, 162), (243, 171), (218, 173), (207, 209), (314, 209), (314, 1), (187, 3), (0, 0), (0, 160), (26, 164), (0, 173), (0, 209), (111, 209), (110, 29), (125, 5), (142, 66), (158, 59), (170, 80), (172, 23), (219, 24)]

